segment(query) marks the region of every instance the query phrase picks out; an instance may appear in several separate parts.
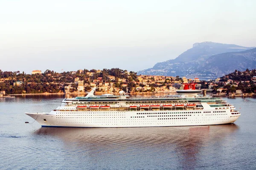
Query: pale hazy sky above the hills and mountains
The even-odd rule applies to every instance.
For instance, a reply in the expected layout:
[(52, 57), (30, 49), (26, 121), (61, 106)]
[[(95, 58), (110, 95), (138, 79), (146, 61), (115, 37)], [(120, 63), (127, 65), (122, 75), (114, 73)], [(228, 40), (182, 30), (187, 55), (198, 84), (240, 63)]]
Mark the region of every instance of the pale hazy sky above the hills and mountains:
[(0, 69), (139, 71), (195, 42), (256, 46), (256, 0), (0, 0)]

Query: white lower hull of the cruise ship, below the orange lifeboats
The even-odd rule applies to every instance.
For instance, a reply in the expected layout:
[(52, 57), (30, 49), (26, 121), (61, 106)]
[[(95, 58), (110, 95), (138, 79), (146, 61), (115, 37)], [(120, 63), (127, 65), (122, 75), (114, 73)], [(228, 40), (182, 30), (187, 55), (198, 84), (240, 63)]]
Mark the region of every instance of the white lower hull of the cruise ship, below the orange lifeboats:
[[(203, 113), (205, 111), (206, 113)], [(223, 110), (224, 111), (224, 110)], [(42, 127), (159, 127), (221, 125), (233, 123), (241, 115), (194, 111), (67, 111), (50, 114), (26, 113)], [(187, 112), (187, 113), (186, 113)], [(210, 113), (211, 112), (211, 113)], [(140, 113), (140, 114), (139, 114)]]

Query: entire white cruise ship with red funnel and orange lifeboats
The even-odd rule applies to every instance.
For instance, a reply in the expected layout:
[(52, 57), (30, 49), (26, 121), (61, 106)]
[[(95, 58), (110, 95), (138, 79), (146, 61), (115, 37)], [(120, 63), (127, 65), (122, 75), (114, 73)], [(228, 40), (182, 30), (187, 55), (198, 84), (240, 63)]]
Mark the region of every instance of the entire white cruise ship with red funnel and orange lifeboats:
[(199, 96), (195, 83), (187, 83), (179, 96), (131, 97), (93, 92), (64, 99), (49, 113), (26, 113), (42, 127), (163, 127), (221, 125), (241, 113), (219, 97)]

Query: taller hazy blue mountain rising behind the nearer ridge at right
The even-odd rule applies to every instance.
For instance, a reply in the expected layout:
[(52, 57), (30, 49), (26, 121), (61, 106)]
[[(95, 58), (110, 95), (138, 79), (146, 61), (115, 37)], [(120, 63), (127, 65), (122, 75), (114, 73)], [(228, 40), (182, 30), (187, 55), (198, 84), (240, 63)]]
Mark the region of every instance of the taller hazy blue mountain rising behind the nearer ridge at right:
[[(223, 74), (230, 73), (230, 70), (227, 70), (227, 68), (216, 70), (218, 65), (223, 63), (222, 59), (223, 61), (227, 61), (227, 59), (224, 59), (226, 58), (225, 55), (231, 55), (227, 53), (240, 52), (250, 50), (252, 48), (253, 47), (242, 47), (234, 44), (221, 44), (216, 42), (195, 43), (193, 44), (193, 48), (183, 52), (177, 58), (170, 59), (166, 62), (158, 62), (153, 68), (138, 71), (138, 74), (186, 77), (219, 77)], [(218, 54), (224, 55), (221, 58), (218, 58), (220, 60), (217, 64), (212, 57)], [(239, 63), (236, 63), (233, 65), (233, 67), (236, 67), (238, 64)], [(245, 65), (243, 64), (243, 66)], [(240, 65), (240, 68), (243, 67)]]

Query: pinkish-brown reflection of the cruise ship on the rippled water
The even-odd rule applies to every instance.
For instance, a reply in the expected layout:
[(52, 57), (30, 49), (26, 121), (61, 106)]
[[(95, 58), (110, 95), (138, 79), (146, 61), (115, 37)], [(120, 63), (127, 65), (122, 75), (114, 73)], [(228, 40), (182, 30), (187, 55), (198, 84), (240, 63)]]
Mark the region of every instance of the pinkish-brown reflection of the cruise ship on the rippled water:
[(239, 127), (235, 124), (138, 128), (42, 127), (35, 131), (35, 135), (57, 137), (65, 148), (80, 150), (80, 154), (87, 156), (168, 155), (177, 159), (182, 167), (192, 167), (202, 149), (224, 142), (236, 130)]

